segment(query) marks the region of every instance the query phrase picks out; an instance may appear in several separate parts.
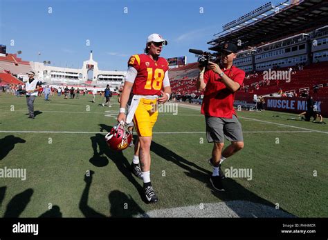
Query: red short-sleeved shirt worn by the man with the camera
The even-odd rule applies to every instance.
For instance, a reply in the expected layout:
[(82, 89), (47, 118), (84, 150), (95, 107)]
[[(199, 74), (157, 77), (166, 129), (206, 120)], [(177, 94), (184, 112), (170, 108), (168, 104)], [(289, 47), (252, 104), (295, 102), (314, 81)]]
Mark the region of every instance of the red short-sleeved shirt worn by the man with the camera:
[[(245, 72), (235, 66), (230, 69), (224, 70), (230, 79), (239, 83), (242, 83), (245, 78)], [(201, 105), (201, 114), (210, 117), (224, 117), (226, 119), (232, 119), (233, 114), (237, 115), (235, 108), (233, 108), (233, 101), (235, 101), (235, 92), (231, 92), (226, 85), (220, 81), (219, 74), (208, 70), (204, 73), (204, 82), (206, 83), (206, 89), (203, 98), (203, 104)]]

